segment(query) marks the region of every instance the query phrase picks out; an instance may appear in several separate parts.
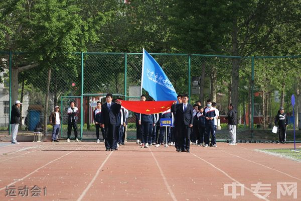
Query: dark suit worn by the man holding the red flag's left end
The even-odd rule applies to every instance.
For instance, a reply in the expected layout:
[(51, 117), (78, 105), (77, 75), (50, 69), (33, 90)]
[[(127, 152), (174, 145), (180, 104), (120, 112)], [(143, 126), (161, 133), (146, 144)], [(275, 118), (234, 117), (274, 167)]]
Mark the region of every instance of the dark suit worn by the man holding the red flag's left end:
[(101, 106), (101, 120), (100, 123), (104, 124), (104, 138), (105, 148), (114, 149), (115, 146), (115, 130), (116, 130), (116, 116), (120, 113), (121, 105), (111, 103), (108, 109), (107, 103)]

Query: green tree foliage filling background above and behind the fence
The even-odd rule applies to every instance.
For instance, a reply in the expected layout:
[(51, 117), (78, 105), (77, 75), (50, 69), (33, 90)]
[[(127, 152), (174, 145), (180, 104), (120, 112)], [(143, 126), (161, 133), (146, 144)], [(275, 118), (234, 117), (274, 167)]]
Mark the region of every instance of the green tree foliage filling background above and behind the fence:
[[(15, 82), (18, 85), (24, 80), (45, 91), (47, 80), (39, 81), (39, 78), (47, 77), (51, 69), (49, 92), (52, 94), (80, 93), (72, 86), (72, 83), (80, 86), (82, 73), (77, 62), (79, 54), (72, 54), (74, 52), (141, 52), (145, 48), (150, 53), (299, 55), (300, 29), (300, 0), (0, 2), (0, 50), (26, 52), (14, 55), (14, 72), (19, 73), (19, 80), (17, 76)], [(8, 57), (1, 57), (5, 61), (1, 66), (8, 67)], [(85, 59), (84, 65), (92, 69), (83, 72), (85, 92), (123, 92), (124, 88), (118, 84), (124, 82), (123, 55), (116, 60), (90, 55)], [(186, 92), (188, 79), (183, 75), (188, 74), (188, 69), (181, 66), (187, 66), (188, 59), (168, 60), (158, 56), (158, 61), (176, 89)], [(139, 83), (138, 62), (139, 58), (128, 57), (128, 72), (133, 75), (128, 79), (135, 84)], [(294, 91), (300, 87), (299, 82), (294, 82), (299, 64), (297, 58), (256, 59), (255, 88), (283, 90), (284, 94)], [(250, 62), (245, 59), (192, 60), (194, 75), (199, 76), (203, 65), (208, 76), (212, 69), (217, 70), (216, 93), (226, 94), (230, 88), (229, 99), (232, 98), (234, 104), (249, 101)], [(175, 66), (177, 71), (173, 71)], [(18, 92), (18, 87), (14, 91)]]

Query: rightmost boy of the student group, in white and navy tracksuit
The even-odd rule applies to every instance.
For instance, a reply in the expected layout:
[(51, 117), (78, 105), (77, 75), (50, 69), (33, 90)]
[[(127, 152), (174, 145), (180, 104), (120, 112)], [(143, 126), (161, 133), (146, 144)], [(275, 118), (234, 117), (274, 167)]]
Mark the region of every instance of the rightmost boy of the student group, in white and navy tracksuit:
[(215, 139), (215, 126), (214, 126), (214, 117), (216, 116), (214, 108), (212, 108), (212, 101), (211, 99), (207, 100), (207, 108), (204, 110), (204, 116), (206, 118), (205, 125), (206, 125), (206, 134), (204, 137), (204, 147), (208, 147), (209, 145), (209, 137), (211, 132), (211, 146), (216, 146), (216, 139)]

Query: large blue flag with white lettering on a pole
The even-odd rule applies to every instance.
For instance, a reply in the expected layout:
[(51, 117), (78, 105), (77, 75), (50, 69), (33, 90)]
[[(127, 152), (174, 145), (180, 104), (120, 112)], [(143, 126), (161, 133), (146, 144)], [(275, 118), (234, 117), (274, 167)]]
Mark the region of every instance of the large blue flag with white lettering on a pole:
[(157, 61), (144, 49), (141, 86), (154, 100), (177, 100), (177, 93), (172, 82)]

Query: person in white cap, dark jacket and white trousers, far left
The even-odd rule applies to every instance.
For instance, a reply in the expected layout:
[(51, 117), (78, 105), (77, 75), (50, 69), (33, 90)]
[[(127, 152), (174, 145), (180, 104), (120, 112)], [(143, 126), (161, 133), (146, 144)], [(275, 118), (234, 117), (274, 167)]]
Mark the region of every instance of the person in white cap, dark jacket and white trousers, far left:
[(21, 124), (21, 114), (20, 114), (20, 107), (22, 103), (17, 100), (15, 105), (12, 107), (12, 115), (11, 115), (11, 122), (12, 125), (12, 144), (17, 143), (17, 133), (19, 124)]

